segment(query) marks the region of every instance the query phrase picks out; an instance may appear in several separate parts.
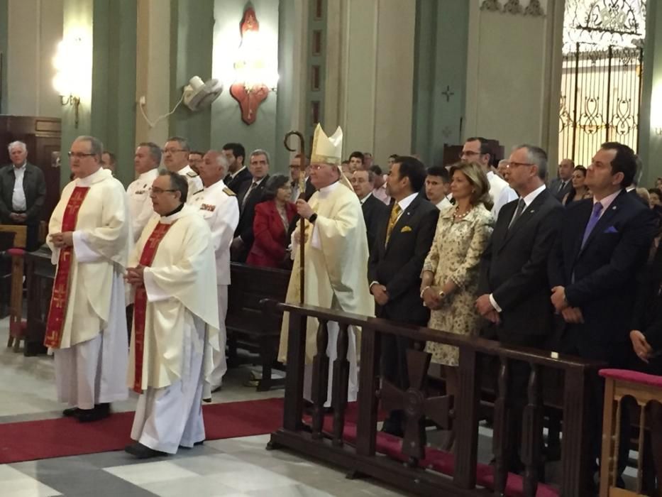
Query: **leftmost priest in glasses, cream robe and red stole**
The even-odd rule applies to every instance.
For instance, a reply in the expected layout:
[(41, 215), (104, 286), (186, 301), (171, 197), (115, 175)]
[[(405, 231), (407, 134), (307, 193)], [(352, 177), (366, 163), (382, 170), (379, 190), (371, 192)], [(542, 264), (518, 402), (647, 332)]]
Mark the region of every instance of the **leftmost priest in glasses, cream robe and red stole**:
[(79, 136), (69, 157), (76, 179), (65, 186), (48, 225), (57, 264), (44, 344), (53, 349), (62, 413), (81, 422), (110, 414), (128, 397), (123, 273), (131, 246), (126, 193), (101, 168), (104, 146)]

